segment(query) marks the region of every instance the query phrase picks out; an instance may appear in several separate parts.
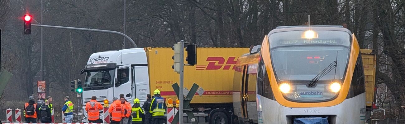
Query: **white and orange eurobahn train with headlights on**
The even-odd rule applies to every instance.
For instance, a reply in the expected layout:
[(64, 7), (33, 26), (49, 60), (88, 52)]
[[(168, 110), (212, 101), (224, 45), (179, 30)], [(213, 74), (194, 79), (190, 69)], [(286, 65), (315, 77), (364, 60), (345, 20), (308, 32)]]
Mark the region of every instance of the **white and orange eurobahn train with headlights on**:
[(238, 58), (233, 106), (258, 124), (364, 124), (360, 47), (343, 26), (283, 26)]

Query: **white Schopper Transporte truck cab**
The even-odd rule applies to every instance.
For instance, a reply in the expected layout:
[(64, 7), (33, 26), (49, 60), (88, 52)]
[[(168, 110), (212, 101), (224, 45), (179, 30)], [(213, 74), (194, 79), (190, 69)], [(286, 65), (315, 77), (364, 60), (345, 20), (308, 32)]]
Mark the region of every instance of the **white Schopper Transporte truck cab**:
[[(87, 122), (85, 104), (91, 100), (92, 96), (96, 96), (97, 101), (104, 104), (104, 99), (112, 103), (113, 97), (119, 99), (119, 95), (124, 94), (131, 105), (135, 98), (143, 104), (149, 93), (147, 65), (143, 48), (92, 54), (82, 71), (86, 74), (82, 94), (83, 122)], [(102, 111), (100, 111), (100, 119), (102, 119)]]

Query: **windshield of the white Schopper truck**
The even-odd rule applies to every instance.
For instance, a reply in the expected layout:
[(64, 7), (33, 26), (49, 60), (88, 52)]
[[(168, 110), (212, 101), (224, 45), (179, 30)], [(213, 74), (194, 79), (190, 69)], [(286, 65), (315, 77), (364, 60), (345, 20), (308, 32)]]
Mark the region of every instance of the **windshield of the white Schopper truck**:
[(115, 69), (87, 72), (83, 90), (99, 90), (113, 87)]

